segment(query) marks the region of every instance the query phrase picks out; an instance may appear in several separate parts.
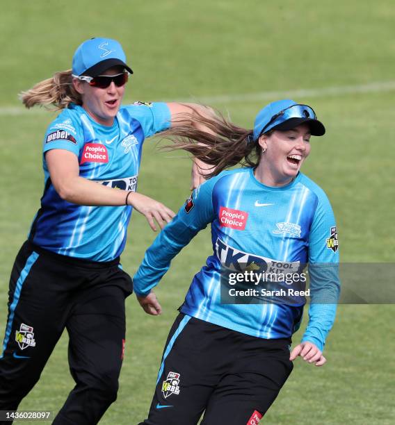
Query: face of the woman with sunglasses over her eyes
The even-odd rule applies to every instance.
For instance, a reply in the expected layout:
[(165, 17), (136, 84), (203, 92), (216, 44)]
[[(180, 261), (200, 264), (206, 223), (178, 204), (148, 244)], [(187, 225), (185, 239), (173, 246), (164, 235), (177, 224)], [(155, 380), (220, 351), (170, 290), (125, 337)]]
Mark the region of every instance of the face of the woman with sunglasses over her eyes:
[[(122, 67), (107, 69), (102, 75), (117, 75), (123, 72)], [(74, 88), (82, 97), (82, 106), (96, 122), (104, 126), (112, 126), (114, 117), (120, 109), (125, 86), (117, 87), (113, 81), (107, 88), (90, 86), (86, 81), (73, 79)]]

